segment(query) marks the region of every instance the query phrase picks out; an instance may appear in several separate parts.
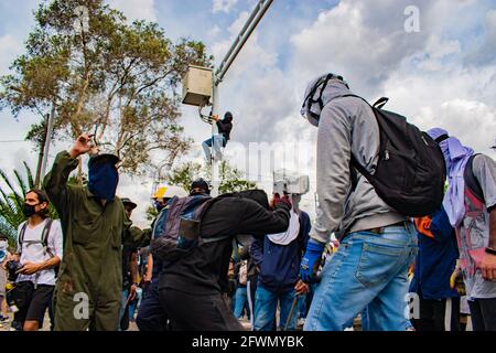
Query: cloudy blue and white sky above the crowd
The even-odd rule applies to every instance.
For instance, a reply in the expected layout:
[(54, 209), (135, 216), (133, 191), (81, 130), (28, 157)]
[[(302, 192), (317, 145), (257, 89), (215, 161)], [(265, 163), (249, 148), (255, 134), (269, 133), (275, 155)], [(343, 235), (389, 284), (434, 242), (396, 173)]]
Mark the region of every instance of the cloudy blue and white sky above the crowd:
[[(0, 0), (0, 74), (22, 53), (39, 2)], [(109, 0), (130, 20), (159, 22), (173, 40), (203, 41), (217, 63), (257, 2)], [(417, 10), (418, 28), (411, 22)], [(421, 129), (443, 127), (496, 157), (489, 149), (496, 139), (495, 53), (496, 0), (274, 0), (219, 86), (220, 110), (235, 116), (227, 158), (270, 192), (272, 167), (254, 167), (239, 151), (249, 143), (280, 143), (273, 168), (284, 163), (310, 175), (303, 207), (313, 214), (316, 129), (299, 110), (306, 83), (326, 72), (342, 74), (369, 100), (389, 97), (389, 109)], [(184, 159), (196, 159), (209, 127), (195, 108), (184, 106), (183, 113), (186, 133), (196, 141)], [(34, 168), (32, 146), (18, 140), (36, 117), (21, 113), (14, 120), (3, 111), (0, 121), (0, 167), (11, 171), (25, 160)], [(57, 143), (50, 161), (64, 148)], [(119, 185), (119, 194), (140, 203), (133, 216), (139, 225), (145, 225), (150, 192), (150, 180), (123, 178)]]

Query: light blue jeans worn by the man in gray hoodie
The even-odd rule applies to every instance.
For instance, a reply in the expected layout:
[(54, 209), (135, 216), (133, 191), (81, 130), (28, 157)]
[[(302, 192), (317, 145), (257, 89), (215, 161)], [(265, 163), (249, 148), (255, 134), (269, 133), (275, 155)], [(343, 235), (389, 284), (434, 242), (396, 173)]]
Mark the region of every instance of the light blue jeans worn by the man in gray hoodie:
[(326, 261), (305, 331), (343, 331), (364, 309), (371, 331), (405, 331), (408, 267), (417, 254), (413, 225), (382, 234), (348, 234)]

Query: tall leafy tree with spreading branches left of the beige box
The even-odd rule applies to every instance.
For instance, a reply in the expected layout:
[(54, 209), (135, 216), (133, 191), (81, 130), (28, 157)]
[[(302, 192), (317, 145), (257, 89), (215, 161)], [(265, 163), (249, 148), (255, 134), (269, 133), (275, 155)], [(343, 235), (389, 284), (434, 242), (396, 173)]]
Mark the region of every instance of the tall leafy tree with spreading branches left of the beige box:
[[(157, 23), (129, 24), (103, 0), (44, 2), (34, 18), (25, 53), (0, 78), (0, 109), (43, 116), (54, 104), (55, 136), (95, 133), (129, 174), (145, 173), (157, 151), (172, 165), (190, 148), (176, 89), (188, 64), (212, 65), (202, 42), (172, 43)], [(43, 129), (44, 120), (26, 138), (40, 145)]]

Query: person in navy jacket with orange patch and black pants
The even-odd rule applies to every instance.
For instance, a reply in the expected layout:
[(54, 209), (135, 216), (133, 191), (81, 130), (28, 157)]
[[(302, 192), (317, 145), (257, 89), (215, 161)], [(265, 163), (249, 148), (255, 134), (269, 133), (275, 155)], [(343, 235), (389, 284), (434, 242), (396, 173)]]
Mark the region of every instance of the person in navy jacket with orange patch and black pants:
[[(419, 253), (410, 292), (419, 296), (417, 331), (460, 331), (460, 295), (450, 284), (456, 268), (456, 236), (444, 208), (416, 218)], [(448, 323), (448, 325), (446, 325)]]

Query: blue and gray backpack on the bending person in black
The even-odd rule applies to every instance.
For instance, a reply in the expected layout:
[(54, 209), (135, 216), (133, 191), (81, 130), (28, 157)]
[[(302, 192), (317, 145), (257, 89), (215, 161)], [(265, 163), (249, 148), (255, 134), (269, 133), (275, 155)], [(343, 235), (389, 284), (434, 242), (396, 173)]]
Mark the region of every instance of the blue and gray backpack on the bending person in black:
[(157, 217), (150, 253), (162, 261), (176, 261), (204, 243), (228, 236), (202, 238), (200, 226), (206, 210), (216, 201), (211, 196), (172, 197)]

